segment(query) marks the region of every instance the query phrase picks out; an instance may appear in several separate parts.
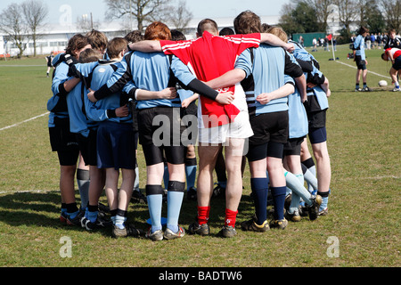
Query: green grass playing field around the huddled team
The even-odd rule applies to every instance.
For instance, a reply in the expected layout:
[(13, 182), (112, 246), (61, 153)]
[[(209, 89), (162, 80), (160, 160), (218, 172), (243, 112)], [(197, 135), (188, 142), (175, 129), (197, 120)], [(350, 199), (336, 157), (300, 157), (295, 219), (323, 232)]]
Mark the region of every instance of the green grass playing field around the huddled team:
[[(389, 64), (381, 60), (381, 50), (366, 51), (367, 67), (375, 72), (368, 74), (373, 92), (355, 93), (355, 62), (347, 60), (347, 53), (348, 45), (338, 47), (339, 61), (329, 61), (331, 52), (313, 53), (331, 83), (329, 215), (314, 222), (304, 218), (284, 231), (242, 232), (237, 226), (235, 238), (221, 239), (216, 233), (224, 223), (225, 205), (214, 199), (211, 236), (161, 242), (114, 240), (108, 231), (60, 224), (59, 166), (45, 114), (51, 96), (45, 59), (0, 61), (0, 266), (400, 266), (401, 94), (389, 92)], [(381, 79), (389, 86), (379, 87)], [(138, 159), (144, 188), (141, 150)], [(239, 223), (253, 214), (248, 167), (243, 185)], [(195, 215), (196, 203), (184, 198), (180, 224), (187, 229)], [(146, 205), (130, 205), (128, 220), (137, 227), (145, 229), (148, 217)], [(65, 237), (72, 242), (71, 257), (60, 254)], [(339, 255), (330, 254), (331, 240), (337, 240)]]

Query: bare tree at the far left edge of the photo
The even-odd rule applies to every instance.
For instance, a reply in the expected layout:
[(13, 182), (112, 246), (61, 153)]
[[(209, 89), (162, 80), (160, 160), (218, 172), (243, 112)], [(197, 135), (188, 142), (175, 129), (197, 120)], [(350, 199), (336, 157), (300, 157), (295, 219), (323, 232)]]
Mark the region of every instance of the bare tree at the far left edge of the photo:
[(0, 31), (7, 35), (7, 40), (17, 45), (20, 58), (27, 48), (28, 28), (19, 4), (10, 4), (0, 14)]

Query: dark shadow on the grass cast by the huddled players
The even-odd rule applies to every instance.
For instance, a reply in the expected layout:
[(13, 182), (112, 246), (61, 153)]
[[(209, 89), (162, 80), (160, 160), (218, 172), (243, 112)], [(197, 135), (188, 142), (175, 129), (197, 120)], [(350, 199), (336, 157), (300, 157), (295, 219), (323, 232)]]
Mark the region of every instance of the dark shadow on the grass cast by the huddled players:
[[(141, 190), (144, 192), (144, 190)], [(79, 194), (77, 191), (77, 203), (79, 207)], [(102, 195), (100, 201), (107, 205), (107, 200)], [(11, 226), (36, 225), (41, 227), (62, 228), (73, 231), (83, 231), (78, 226), (67, 226), (60, 221), (61, 196), (59, 191), (47, 192), (15, 192), (0, 196), (0, 221)], [(162, 216), (167, 217), (168, 203), (163, 202)], [(243, 195), (239, 208), (239, 220), (249, 219), (253, 211), (253, 202), (249, 195)], [(179, 224), (185, 230), (192, 224), (197, 215), (197, 202), (188, 200), (184, 194), (181, 207)], [(107, 215), (110, 218), (110, 215)], [(149, 209), (147, 204), (131, 201), (128, 207), (127, 222), (135, 224), (136, 228), (147, 231), (150, 224)], [(217, 197), (211, 199), (209, 226), (221, 228), (225, 223), (225, 198)], [(110, 229), (102, 231), (105, 236), (110, 236)]]

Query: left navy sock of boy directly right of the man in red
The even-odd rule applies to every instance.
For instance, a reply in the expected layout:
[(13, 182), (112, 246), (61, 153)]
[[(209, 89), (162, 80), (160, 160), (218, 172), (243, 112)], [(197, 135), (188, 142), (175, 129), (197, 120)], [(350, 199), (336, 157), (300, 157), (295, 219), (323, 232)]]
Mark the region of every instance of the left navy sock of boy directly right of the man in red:
[(263, 224), (267, 219), (268, 183), (268, 178), (250, 178), (250, 187), (255, 204), (255, 215), (257, 217), (257, 224), (259, 225)]

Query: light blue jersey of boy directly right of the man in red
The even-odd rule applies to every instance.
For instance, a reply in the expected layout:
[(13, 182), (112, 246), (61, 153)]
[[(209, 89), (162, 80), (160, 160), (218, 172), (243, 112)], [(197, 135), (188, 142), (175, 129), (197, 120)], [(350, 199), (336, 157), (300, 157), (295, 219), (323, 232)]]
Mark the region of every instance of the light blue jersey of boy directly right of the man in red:
[(287, 96), (274, 99), (265, 105), (256, 101), (258, 94), (273, 92), (289, 82), (293, 84), (292, 78), (284, 75), (285, 51), (281, 47), (260, 45), (253, 49), (253, 58), (252, 63), (250, 49), (247, 49), (235, 62), (235, 68), (244, 70), (246, 77), (253, 75), (254, 90), (245, 90), (250, 116), (288, 110)]

